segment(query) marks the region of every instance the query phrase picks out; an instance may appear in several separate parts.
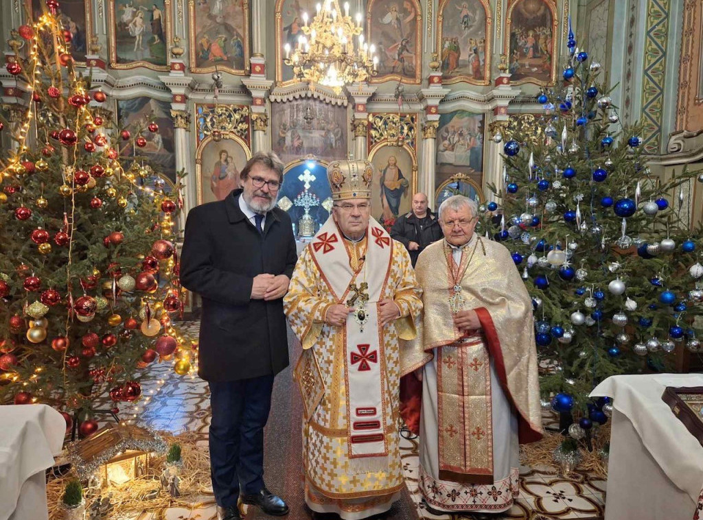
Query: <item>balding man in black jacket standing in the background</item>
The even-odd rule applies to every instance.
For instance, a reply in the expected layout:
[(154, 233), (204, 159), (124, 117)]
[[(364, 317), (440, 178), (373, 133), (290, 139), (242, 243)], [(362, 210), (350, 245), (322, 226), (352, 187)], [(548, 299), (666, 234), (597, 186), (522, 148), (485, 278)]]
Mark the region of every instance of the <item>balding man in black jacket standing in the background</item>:
[(413, 211), (398, 217), (391, 229), (391, 237), (408, 249), (413, 267), (425, 247), (444, 237), (437, 215), (427, 209), (427, 195), (413, 195)]

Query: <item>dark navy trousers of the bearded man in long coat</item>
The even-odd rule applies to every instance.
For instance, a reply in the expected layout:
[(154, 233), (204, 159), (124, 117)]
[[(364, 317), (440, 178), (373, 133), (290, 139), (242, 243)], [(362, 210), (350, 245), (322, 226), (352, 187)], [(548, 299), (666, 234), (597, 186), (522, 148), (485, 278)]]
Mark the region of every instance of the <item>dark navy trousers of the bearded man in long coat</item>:
[(273, 375), (209, 382), (210, 478), (217, 505), (237, 505), (242, 494), (264, 487), (264, 426), (271, 409)]

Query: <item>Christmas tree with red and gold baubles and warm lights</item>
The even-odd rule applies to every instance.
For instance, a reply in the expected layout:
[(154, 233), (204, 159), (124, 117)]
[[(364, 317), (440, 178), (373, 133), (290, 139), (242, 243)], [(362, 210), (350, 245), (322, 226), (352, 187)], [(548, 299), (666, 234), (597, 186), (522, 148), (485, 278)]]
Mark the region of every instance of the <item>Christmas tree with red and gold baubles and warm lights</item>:
[(73, 65), (58, 2), (46, 6), (14, 33), (6, 65), (29, 97), (24, 120), (3, 124), (13, 145), (0, 157), (0, 402), (47, 403), (86, 436), (97, 396), (109, 391), (113, 414), (138, 401), (140, 369), (157, 357), (192, 370), (171, 322), (183, 297), (180, 182), (165, 193), (150, 165), (110, 145), (138, 150), (158, 127), (116, 128), (105, 93)]

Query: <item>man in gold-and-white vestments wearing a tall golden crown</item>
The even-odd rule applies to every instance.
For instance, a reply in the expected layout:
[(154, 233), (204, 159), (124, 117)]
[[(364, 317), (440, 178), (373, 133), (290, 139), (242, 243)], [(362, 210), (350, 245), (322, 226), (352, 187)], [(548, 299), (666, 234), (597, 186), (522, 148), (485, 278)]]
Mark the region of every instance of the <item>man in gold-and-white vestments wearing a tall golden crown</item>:
[(302, 252), (283, 299), (302, 343), (305, 500), (355, 520), (387, 511), (404, 486), (399, 338), (423, 304), (410, 256), (370, 217), (373, 165), (328, 167), (334, 207)]

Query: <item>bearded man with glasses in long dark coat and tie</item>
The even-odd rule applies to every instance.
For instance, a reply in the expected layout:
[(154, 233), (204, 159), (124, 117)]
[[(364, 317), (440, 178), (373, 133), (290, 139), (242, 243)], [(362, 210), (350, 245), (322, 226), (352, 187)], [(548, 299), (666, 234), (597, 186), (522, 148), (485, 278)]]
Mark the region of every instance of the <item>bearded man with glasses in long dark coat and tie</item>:
[(263, 467), (273, 377), (288, 366), (283, 296), (296, 261), (290, 217), (276, 207), (283, 163), (258, 152), (240, 180), (225, 200), (191, 209), (181, 254), (181, 284), (202, 298), (198, 362), (219, 520), (240, 518), (240, 494), (266, 514), (288, 513)]

